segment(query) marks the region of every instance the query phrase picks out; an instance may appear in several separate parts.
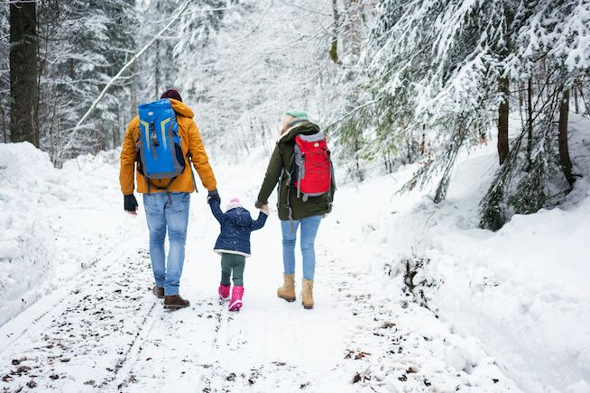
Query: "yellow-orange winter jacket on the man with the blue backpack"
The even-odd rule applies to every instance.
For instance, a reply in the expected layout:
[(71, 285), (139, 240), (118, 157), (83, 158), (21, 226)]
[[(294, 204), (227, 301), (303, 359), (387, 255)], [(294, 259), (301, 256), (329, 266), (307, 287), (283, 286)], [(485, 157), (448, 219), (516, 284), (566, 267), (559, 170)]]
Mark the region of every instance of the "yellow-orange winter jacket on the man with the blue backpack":
[[(209, 159), (201, 135), (198, 133), (197, 124), (192, 120), (194, 113), (189, 106), (171, 99), (172, 109), (176, 112), (176, 120), (179, 123), (180, 147), (187, 157), (187, 152), (190, 153), (192, 163), (197, 169), (198, 177), (201, 178), (203, 186), (208, 191), (213, 191), (217, 188), (217, 181), (213, 174), (213, 169), (209, 165)], [(135, 173), (135, 158), (137, 151), (135, 151), (135, 142), (139, 137), (139, 116), (136, 116), (127, 125), (125, 131), (123, 149), (121, 150), (121, 171), (119, 172), (119, 182), (121, 183), (121, 191), (124, 195), (134, 193), (134, 173)], [(185, 159), (184, 171), (180, 173), (168, 187), (171, 192), (192, 192), (193, 187), (192, 176), (190, 174), (189, 160)], [(143, 175), (137, 172), (137, 192), (148, 192), (147, 183)], [(166, 187), (170, 180), (168, 179), (152, 179), (152, 184), (159, 187)], [(162, 192), (162, 190), (151, 187), (152, 192)]]

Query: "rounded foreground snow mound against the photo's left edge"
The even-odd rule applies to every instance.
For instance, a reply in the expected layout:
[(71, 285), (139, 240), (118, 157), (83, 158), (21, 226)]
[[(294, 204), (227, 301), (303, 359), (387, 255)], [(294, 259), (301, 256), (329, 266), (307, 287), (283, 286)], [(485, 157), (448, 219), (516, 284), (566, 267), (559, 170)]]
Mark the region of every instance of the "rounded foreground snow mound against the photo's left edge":
[(29, 143), (0, 144), (0, 324), (42, 294), (54, 275), (47, 206), (59, 177), (47, 154)]

